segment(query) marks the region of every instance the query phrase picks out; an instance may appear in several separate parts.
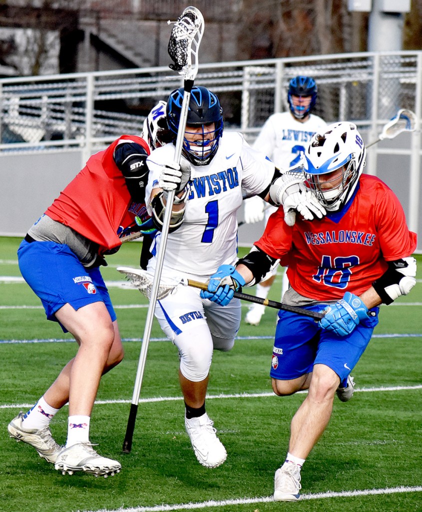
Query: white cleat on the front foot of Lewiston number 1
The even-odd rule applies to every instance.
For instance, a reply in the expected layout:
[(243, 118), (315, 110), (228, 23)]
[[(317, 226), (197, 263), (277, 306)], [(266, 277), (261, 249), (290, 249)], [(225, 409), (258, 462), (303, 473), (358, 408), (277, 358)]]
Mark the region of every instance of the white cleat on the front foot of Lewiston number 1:
[(216, 436), (213, 421), (205, 413), (199, 418), (187, 419), (185, 428), (198, 462), (205, 467), (218, 467), (227, 458), (223, 443)]

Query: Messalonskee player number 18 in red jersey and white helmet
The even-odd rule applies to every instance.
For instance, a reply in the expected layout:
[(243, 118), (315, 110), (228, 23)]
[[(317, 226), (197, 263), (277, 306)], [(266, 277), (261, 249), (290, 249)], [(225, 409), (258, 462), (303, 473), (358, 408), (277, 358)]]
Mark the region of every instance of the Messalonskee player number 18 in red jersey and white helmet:
[(299, 499), (301, 467), (328, 424), (336, 391), (342, 401), (353, 394), (349, 374), (378, 323), (378, 306), (407, 295), (416, 282), (416, 234), (392, 190), (362, 175), (364, 164), (356, 125), (331, 124), (316, 134), (305, 151), (304, 175), (326, 217), (289, 227), (278, 210), (250, 253), (235, 266), (220, 267), (202, 292), (230, 305), (237, 283), (258, 283), (280, 260), (291, 284), (283, 302), (326, 312), (318, 323), (278, 313), (273, 390), (279, 396), (308, 394), (292, 419), (288, 453), (275, 474), (275, 500)]

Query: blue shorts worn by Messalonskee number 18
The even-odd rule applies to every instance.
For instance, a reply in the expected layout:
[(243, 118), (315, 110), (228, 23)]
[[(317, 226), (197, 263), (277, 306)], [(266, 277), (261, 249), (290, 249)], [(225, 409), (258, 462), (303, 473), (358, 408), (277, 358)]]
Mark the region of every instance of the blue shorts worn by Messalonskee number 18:
[[(323, 304), (306, 309), (321, 311)], [(359, 324), (351, 334), (341, 338), (321, 329), (309, 316), (281, 310), (271, 361), (271, 377), (290, 380), (312, 372), (314, 365), (326, 365), (343, 381), (364, 353), (378, 324), (379, 308), (370, 310), (366, 325)]]

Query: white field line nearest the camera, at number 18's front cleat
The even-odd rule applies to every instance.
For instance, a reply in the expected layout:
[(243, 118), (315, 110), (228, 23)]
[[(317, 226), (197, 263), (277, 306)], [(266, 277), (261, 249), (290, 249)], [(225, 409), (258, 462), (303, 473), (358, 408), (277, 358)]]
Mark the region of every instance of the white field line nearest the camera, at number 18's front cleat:
[[(302, 494), (299, 501), (304, 500), (321, 500), (326, 498), (353, 498), (355, 496), (375, 496), (385, 494), (399, 494), (399, 493), (420, 493), (422, 492), (422, 486), (414, 487), (385, 487), (384, 489), (365, 489), (365, 490), (343, 490), (340, 493), (328, 491), (326, 493), (317, 494)], [(110, 510), (102, 508), (101, 510), (85, 510), (84, 512), (170, 512), (171, 510), (197, 510), (207, 507), (225, 507), (230, 505), (250, 505), (255, 503), (271, 503), (274, 502), (272, 496), (262, 496), (260, 498), (237, 498), (231, 500), (209, 500), (197, 503), (180, 503), (174, 505), (154, 505), (151, 507), (129, 507), (129, 508), (118, 508)]]

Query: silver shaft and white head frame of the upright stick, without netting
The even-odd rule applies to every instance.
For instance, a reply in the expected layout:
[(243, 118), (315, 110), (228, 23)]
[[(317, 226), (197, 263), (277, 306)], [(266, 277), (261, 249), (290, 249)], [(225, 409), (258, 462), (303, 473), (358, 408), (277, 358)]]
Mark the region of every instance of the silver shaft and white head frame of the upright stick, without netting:
[[(200, 11), (198, 11), (196, 8), (187, 7), (183, 11), (183, 14), (185, 14), (185, 12), (187, 12), (188, 10), (192, 11), (192, 9), (194, 9), (194, 11), (193, 11), (194, 14), (196, 16), (198, 16), (198, 18), (199, 18), (199, 25), (198, 25), (196, 32), (194, 33), (194, 35), (192, 35), (191, 40), (187, 45), (187, 47), (188, 47), (187, 51), (189, 53), (187, 55), (188, 65), (185, 67), (185, 80), (184, 80), (182, 111), (181, 111), (181, 115), (180, 115), (179, 126), (177, 129), (177, 138), (176, 138), (176, 144), (175, 144), (175, 150), (174, 150), (174, 162), (177, 165), (180, 165), (180, 160), (181, 160), (181, 156), (182, 156), (183, 140), (184, 140), (184, 136), (185, 136), (186, 123), (187, 123), (187, 118), (188, 118), (190, 93), (192, 91), (193, 81), (196, 77), (196, 73), (198, 70), (197, 51), (198, 51), (198, 47), (199, 47), (199, 42), (201, 42), (202, 33), (204, 31), (204, 18)], [(183, 14), (182, 14), (182, 16), (183, 16)], [(176, 22), (176, 23), (178, 23), (178, 22)], [(194, 49), (195, 63), (194, 63), (194, 67), (192, 68), (190, 51), (191, 51), (193, 38), (196, 35), (199, 35), (199, 36), (198, 36), (198, 39), (195, 41), (196, 42), (195, 49)], [(168, 238), (168, 232), (169, 232), (169, 227), (170, 227), (170, 218), (171, 218), (171, 210), (173, 207), (174, 195), (175, 195), (175, 190), (170, 190), (168, 193), (168, 196), (167, 196), (166, 210), (164, 212), (164, 219), (163, 219), (163, 229), (161, 231), (160, 247), (159, 247), (159, 251), (157, 254), (156, 271), (154, 273), (154, 279), (152, 282), (151, 297), (149, 300), (148, 312), (147, 312), (147, 317), (146, 317), (146, 321), (145, 321), (145, 330), (144, 330), (144, 335), (142, 338), (142, 347), (141, 347), (141, 353), (139, 355), (138, 369), (137, 369), (137, 374), (136, 374), (136, 379), (135, 379), (134, 393), (132, 395), (132, 402), (131, 402), (131, 408), (130, 408), (130, 413), (129, 413), (129, 419), (128, 419), (128, 423), (127, 423), (126, 436), (123, 441), (123, 452), (125, 452), (125, 453), (129, 453), (131, 450), (132, 438), (133, 438), (133, 434), (134, 434), (134, 430), (135, 430), (135, 420), (136, 420), (136, 415), (137, 415), (137, 410), (138, 410), (139, 396), (141, 394), (142, 379), (143, 379), (143, 375), (144, 375), (145, 360), (146, 360), (146, 355), (147, 355), (147, 350), (148, 350), (148, 345), (149, 345), (149, 339), (150, 339), (150, 335), (151, 335), (152, 322), (154, 319), (154, 311), (156, 309), (156, 304), (157, 304), (157, 296), (158, 296), (158, 291), (159, 291), (159, 286), (160, 286), (161, 272), (163, 269), (164, 254), (165, 254), (166, 245), (167, 245), (167, 238)]]

